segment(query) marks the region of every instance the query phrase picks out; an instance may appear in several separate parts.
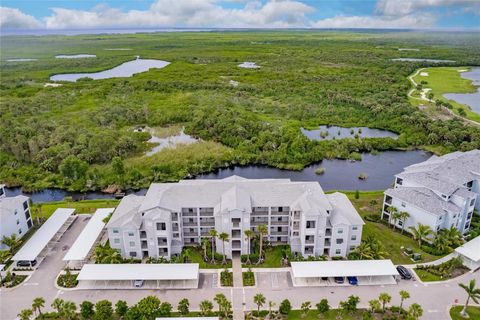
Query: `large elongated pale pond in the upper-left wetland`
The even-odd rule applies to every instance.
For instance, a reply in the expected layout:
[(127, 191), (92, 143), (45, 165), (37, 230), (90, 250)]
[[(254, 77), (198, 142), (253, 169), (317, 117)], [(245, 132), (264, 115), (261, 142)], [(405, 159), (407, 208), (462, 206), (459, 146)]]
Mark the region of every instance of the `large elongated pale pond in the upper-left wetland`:
[(80, 78), (91, 78), (93, 80), (110, 78), (128, 78), (134, 74), (146, 72), (152, 68), (161, 69), (168, 66), (170, 62), (154, 59), (136, 59), (122, 63), (115, 68), (94, 72), (94, 73), (66, 73), (57, 74), (50, 77), (52, 81), (70, 81), (75, 82)]

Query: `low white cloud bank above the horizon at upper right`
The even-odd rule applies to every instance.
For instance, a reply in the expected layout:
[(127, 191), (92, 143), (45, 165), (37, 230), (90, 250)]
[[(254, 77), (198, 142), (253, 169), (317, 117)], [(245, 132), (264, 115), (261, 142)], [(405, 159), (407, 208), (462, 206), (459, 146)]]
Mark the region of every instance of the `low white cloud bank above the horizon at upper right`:
[(336, 16), (316, 21), (314, 28), (428, 28), (435, 24), (431, 14), (411, 14), (391, 18), (387, 16)]

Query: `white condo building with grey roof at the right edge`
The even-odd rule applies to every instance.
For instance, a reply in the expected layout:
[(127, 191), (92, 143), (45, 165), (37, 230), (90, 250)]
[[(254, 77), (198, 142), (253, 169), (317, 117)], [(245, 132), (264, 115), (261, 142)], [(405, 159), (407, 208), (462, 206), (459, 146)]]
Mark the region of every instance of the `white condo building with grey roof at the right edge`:
[[(382, 218), (390, 219), (389, 207), (406, 211), (405, 230), (419, 223), (434, 232), (457, 228), (466, 233), (480, 209), (480, 150), (453, 152), (408, 166), (395, 176), (393, 189), (385, 191)], [(396, 221), (401, 228), (403, 221)]]

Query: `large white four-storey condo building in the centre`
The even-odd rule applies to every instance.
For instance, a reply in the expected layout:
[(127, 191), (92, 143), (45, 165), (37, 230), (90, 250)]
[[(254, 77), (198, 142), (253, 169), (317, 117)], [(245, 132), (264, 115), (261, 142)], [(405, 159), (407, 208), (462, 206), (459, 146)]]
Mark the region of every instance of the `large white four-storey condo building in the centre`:
[[(273, 245), (303, 256), (346, 256), (360, 244), (364, 224), (342, 193), (317, 182), (289, 179), (182, 180), (154, 183), (145, 196), (122, 199), (107, 224), (110, 245), (124, 257), (170, 257), (199, 245), (212, 228), (226, 232), (227, 257), (246, 254), (245, 230), (268, 227)], [(216, 240), (222, 252), (222, 243)]]

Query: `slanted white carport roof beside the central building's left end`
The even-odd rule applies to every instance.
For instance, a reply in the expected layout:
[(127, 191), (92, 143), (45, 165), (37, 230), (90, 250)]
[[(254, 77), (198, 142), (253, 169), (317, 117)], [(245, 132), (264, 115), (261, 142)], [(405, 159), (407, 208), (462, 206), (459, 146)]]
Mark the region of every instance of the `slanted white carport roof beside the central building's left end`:
[(80, 233), (70, 250), (68, 250), (65, 257), (63, 257), (63, 261), (84, 260), (87, 257), (95, 240), (105, 226), (103, 220), (108, 217), (113, 210), (115, 210), (115, 208), (97, 209), (97, 211), (95, 211), (95, 214), (90, 218), (82, 230), (82, 233)]

